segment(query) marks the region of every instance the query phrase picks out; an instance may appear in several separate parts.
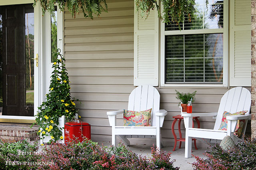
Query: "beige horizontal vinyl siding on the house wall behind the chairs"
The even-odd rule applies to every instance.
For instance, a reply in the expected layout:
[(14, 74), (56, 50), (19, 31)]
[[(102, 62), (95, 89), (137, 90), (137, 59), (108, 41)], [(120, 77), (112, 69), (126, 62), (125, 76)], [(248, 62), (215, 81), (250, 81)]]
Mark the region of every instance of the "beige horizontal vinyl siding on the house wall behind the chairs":
[[(106, 111), (127, 109), (128, 96), (133, 86), (133, 6), (134, 0), (108, 1), (109, 13), (103, 13), (94, 20), (76, 16), (72, 19), (65, 12), (65, 58), (71, 81), (72, 96), (80, 99), (77, 103), (82, 121), (92, 125), (93, 141), (111, 141), (111, 127)], [(193, 111), (216, 112), (220, 98), (227, 89), (186, 89), (197, 90)], [(180, 114), (175, 88), (158, 88), (161, 95), (160, 109), (166, 109), (162, 137), (167, 145), (173, 146), (172, 116)], [(212, 117), (200, 117), (201, 128), (214, 127)], [(122, 117), (118, 115), (118, 125)], [(182, 121), (182, 135), (185, 136)], [(178, 129), (176, 123), (175, 129)], [(178, 131), (176, 131), (178, 134)], [(136, 143), (150, 143), (152, 139), (133, 140)], [(153, 139), (154, 141), (154, 139)], [(155, 142), (155, 141), (154, 141)], [(184, 146), (184, 143), (183, 145)]]

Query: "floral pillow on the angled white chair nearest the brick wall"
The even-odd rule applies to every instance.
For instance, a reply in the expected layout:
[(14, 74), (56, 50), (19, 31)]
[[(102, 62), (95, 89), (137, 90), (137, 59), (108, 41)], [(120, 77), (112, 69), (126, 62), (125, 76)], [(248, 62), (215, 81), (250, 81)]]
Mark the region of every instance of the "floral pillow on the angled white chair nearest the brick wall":
[[(227, 111), (224, 111), (224, 113), (222, 115), (222, 121), (221, 121), (219, 130), (226, 131), (228, 129), (228, 121), (226, 119), (226, 116), (244, 115), (246, 112), (247, 112), (247, 110), (244, 110), (244, 111), (238, 111), (236, 113), (231, 114)], [(244, 121), (245, 121), (244, 119), (237, 121), (236, 129), (234, 131), (234, 135), (236, 135), (237, 137), (240, 137), (242, 135), (242, 131), (243, 131), (243, 127), (244, 127)]]

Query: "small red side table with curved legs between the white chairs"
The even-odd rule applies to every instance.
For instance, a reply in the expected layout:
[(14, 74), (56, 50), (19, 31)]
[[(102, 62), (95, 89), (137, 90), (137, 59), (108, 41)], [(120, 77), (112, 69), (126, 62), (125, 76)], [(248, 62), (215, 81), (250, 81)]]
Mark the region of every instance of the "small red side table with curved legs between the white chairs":
[[(176, 116), (173, 116), (173, 118), (174, 118), (174, 121), (172, 122), (172, 134), (174, 136), (175, 143), (174, 143), (174, 149), (172, 151), (175, 151), (177, 141), (180, 142), (180, 145), (179, 145), (179, 149), (180, 149), (181, 142), (185, 142), (185, 138), (182, 138), (182, 134), (181, 134), (181, 130), (180, 130), (180, 123), (181, 123), (181, 120), (183, 119), (183, 117), (181, 115), (176, 115)], [(180, 139), (177, 140), (177, 136), (176, 136), (175, 131), (174, 131), (174, 125), (175, 125), (175, 123), (178, 119), (179, 119), (178, 130), (179, 130)], [(193, 119), (196, 120), (197, 128), (200, 128), (200, 121), (198, 120), (198, 117), (193, 117)], [(194, 127), (194, 122), (193, 122), (192, 127)], [(192, 139), (192, 141), (194, 141), (195, 149), (197, 150), (196, 139)]]

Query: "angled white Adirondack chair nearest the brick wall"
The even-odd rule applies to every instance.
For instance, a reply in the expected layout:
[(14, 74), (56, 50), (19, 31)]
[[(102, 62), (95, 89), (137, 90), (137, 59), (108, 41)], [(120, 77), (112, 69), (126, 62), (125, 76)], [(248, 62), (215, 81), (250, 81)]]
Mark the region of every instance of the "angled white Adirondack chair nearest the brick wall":
[[(245, 119), (244, 128), (242, 134), (246, 131), (246, 126), (248, 119), (250, 119), (250, 108), (251, 108), (251, 93), (246, 88), (236, 87), (228, 90), (222, 96), (220, 100), (220, 106), (218, 113), (185, 113), (182, 112), (184, 117), (184, 124), (186, 127), (186, 142), (185, 142), (185, 158), (191, 157), (191, 147), (192, 147), (192, 137), (193, 138), (203, 138), (202, 141), (207, 141), (207, 143), (213, 143), (217, 140), (222, 140), (225, 136), (230, 136), (237, 143), (238, 139), (234, 136), (234, 130), (236, 128), (237, 120)], [(228, 129), (227, 131), (218, 130), (222, 121), (222, 115), (224, 111), (229, 113), (236, 113), (237, 111), (248, 110), (245, 115), (232, 115), (227, 116)], [(192, 117), (194, 116), (213, 116), (216, 118), (214, 129), (197, 129), (192, 128)], [(241, 135), (242, 137), (242, 135)]]

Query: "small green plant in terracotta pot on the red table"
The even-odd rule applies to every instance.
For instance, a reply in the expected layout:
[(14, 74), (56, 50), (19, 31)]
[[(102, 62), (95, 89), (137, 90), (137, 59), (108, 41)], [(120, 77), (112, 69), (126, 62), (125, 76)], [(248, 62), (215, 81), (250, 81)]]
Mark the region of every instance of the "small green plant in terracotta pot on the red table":
[(188, 105), (188, 101), (194, 102), (196, 100), (196, 91), (194, 91), (193, 93), (180, 93), (177, 90), (176, 91), (176, 99), (180, 100), (180, 104), (178, 106), (181, 105), (182, 107), (182, 112), (186, 112), (187, 111), (187, 105)]

